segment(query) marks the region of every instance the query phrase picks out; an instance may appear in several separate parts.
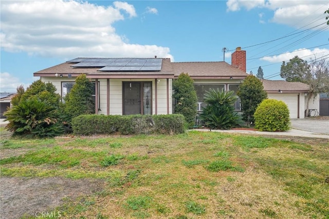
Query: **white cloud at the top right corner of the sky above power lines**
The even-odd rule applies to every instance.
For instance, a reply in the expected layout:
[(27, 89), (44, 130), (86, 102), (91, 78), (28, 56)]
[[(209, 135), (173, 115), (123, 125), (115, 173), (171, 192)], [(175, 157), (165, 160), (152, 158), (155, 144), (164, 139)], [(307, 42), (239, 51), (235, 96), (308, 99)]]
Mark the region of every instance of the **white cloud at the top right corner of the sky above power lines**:
[[(271, 22), (285, 24), (296, 28), (310, 28), (325, 23), (327, 1), (299, 1), (299, 0), (228, 0), (227, 11), (239, 11), (243, 8), (251, 10), (253, 8), (266, 8), (273, 11)], [(263, 20), (260, 21), (263, 23)], [(307, 26), (308, 25), (308, 26)]]

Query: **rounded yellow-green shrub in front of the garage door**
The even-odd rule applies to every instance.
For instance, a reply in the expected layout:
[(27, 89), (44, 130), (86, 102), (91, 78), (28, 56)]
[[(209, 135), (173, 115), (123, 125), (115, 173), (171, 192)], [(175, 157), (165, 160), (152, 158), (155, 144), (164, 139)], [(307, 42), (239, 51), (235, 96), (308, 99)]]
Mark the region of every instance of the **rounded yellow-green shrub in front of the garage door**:
[(254, 113), (255, 128), (259, 131), (287, 131), (290, 129), (288, 106), (281, 100), (266, 99)]

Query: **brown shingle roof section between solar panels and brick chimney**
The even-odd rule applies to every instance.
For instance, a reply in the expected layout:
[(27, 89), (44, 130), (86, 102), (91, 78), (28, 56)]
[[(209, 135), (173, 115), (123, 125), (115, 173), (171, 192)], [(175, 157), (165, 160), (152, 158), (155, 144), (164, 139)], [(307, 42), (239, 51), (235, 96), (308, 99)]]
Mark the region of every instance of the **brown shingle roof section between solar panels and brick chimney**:
[(244, 79), (248, 74), (226, 62), (172, 62), (175, 77), (181, 72), (193, 79)]

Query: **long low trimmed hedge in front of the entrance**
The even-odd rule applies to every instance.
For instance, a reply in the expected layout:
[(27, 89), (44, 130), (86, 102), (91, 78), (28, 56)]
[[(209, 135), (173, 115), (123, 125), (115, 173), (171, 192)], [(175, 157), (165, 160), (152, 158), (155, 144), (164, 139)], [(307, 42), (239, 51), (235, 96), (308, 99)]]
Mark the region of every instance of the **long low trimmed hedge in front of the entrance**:
[(72, 119), (76, 135), (179, 134), (184, 133), (184, 116), (172, 115), (81, 115)]

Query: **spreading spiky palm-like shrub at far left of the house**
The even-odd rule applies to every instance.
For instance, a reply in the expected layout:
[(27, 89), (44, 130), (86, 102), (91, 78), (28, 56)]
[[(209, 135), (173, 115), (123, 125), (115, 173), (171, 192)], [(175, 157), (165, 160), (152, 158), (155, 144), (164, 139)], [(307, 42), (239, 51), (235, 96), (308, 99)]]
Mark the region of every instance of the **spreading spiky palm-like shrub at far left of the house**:
[(64, 132), (57, 121), (57, 109), (48, 102), (37, 99), (21, 100), (5, 113), (6, 129), (15, 135), (53, 137)]

